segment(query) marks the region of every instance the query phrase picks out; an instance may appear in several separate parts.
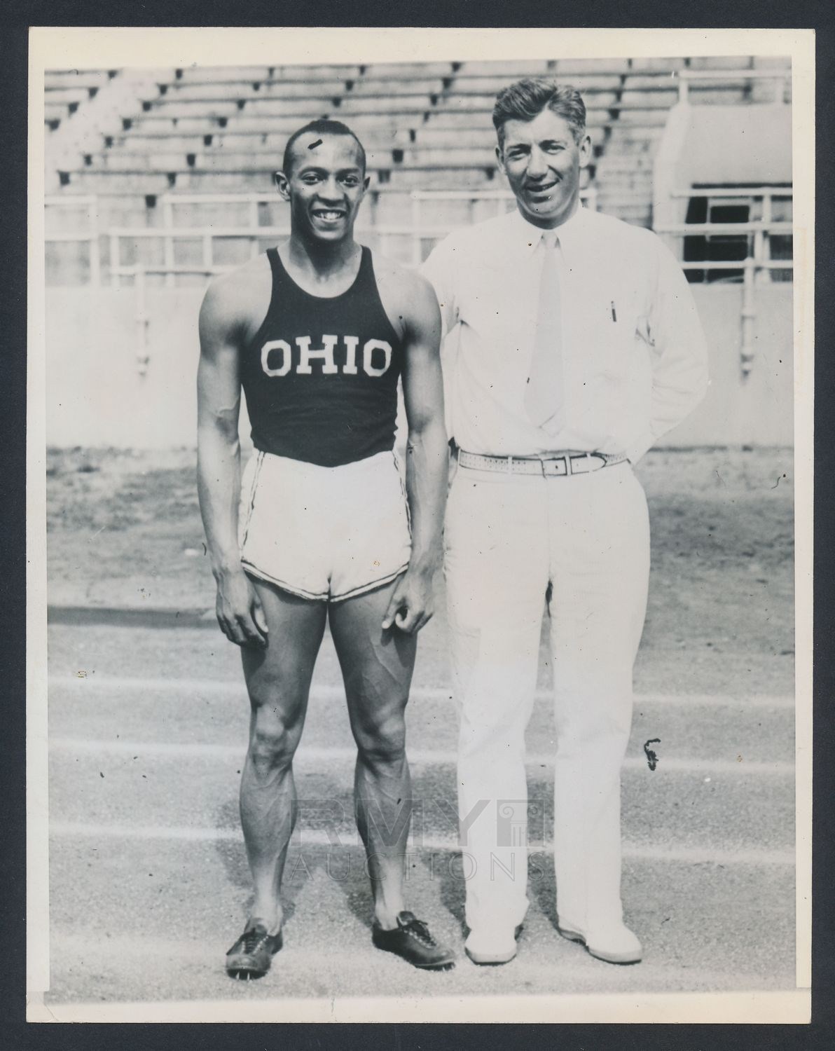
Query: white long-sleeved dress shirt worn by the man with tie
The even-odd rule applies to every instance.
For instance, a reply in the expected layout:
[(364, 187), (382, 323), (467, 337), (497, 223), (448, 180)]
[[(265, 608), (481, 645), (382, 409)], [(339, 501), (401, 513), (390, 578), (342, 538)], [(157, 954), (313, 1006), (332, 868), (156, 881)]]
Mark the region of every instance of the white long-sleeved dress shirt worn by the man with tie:
[(542, 230), (514, 210), (456, 230), (421, 268), (438, 296), (447, 425), (473, 453), (578, 450), (634, 463), (707, 389), (690, 288), (649, 230), (578, 208), (560, 244), (564, 424), (554, 436), (524, 405), (542, 269)]

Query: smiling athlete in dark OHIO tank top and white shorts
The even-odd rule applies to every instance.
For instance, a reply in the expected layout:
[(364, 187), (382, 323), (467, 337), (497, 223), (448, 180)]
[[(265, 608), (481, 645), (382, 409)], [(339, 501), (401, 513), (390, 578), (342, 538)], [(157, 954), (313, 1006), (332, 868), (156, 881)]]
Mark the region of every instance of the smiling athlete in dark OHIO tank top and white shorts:
[[(379, 257), (373, 266), (354, 241), (369, 178), (364, 150), (345, 125), (315, 121), (293, 135), (276, 185), (290, 205), (289, 241), (269, 253), (269, 265), (262, 255), (214, 281), (200, 323), (201, 512), (217, 620), (242, 648), (250, 699), (241, 818), (254, 895), (226, 968), (234, 977), (259, 977), (281, 947), (281, 874), (298, 809), (293, 755), (329, 624), (357, 744), (354, 799), (374, 900), (372, 942), (416, 967), (445, 969), (454, 953), (403, 902), (412, 800), (404, 709), (416, 633), (432, 616), (446, 497), (440, 312), (422, 277)], [(391, 576), (383, 541), (396, 516), (380, 494), (383, 481), (389, 492), (396, 483), (404, 511), (391, 454), (398, 377), (412, 536), (405, 572), (396, 563)], [(259, 450), (245, 501), (242, 386)], [(262, 499), (264, 487), (271, 492)], [(244, 571), (239, 503), (246, 542), (257, 517), (257, 550), (280, 556), (280, 572), (257, 578)], [(331, 564), (337, 549), (338, 574)], [(364, 584), (356, 580), (363, 559)], [(283, 586), (286, 574), (301, 571), (319, 582), (299, 586), (294, 576), (295, 591)], [(334, 783), (332, 790), (341, 788)], [(343, 927), (326, 920), (337, 947)]]

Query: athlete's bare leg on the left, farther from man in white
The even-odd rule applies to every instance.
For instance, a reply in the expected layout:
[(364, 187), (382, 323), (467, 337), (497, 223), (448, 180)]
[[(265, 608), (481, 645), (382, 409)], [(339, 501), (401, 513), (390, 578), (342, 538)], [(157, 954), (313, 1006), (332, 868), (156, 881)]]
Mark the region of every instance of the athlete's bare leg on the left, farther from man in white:
[(269, 636), (263, 650), (242, 648), (251, 714), (241, 823), (255, 889), (250, 926), (258, 921), (275, 933), (281, 925), (281, 873), (296, 821), (293, 756), (305, 726), (327, 605), (253, 582)]

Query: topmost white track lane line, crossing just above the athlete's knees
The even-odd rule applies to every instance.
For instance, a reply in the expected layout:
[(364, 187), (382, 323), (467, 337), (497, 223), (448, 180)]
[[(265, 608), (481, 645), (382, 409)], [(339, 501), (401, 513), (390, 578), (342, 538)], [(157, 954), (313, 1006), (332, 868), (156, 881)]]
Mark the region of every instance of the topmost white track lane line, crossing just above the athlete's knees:
[[(242, 682), (218, 682), (216, 679), (134, 679), (118, 676), (53, 676), (49, 685), (56, 689), (139, 692), (159, 691), (174, 694), (217, 694), (223, 697), (239, 697), (246, 699), (246, 687)], [(314, 685), (310, 692), (311, 700), (332, 701), (345, 700), (345, 689), (341, 686)], [(549, 702), (549, 689), (538, 689), (537, 700)], [(412, 689), (412, 701), (452, 701), (452, 692), (444, 687), (417, 686)], [(692, 705), (693, 707), (735, 705), (739, 707), (794, 708), (794, 697), (787, 694), (636, 694), (635, 709), (641, 705)]]

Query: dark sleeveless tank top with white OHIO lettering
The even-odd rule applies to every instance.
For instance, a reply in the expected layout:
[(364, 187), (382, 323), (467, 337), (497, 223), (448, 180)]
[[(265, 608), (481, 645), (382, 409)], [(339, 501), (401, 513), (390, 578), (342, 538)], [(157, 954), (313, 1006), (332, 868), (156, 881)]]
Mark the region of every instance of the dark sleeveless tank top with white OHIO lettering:
[(256, 449), (338, 467), (394, 448), (402, 341), (380, 302), (370, 249), (332, 298), (310, 295), (270, 248), (272, 297), (244, 351)]

